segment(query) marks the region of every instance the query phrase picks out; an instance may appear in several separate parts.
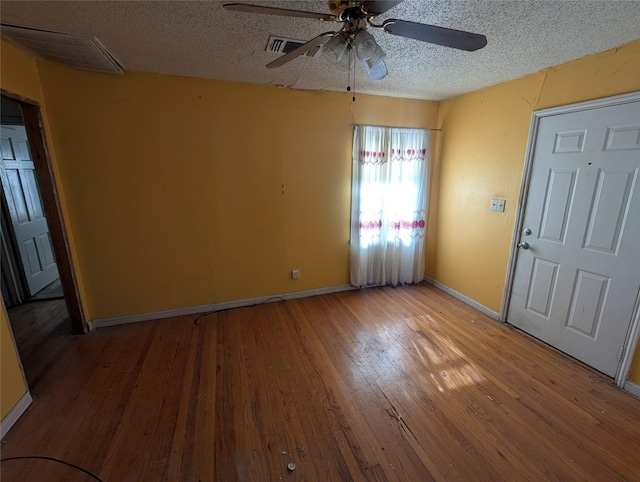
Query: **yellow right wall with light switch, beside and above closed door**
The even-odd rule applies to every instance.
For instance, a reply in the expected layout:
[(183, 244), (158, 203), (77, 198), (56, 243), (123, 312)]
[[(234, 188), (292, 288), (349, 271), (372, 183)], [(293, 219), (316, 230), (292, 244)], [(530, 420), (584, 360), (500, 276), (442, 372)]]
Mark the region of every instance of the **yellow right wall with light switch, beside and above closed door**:
[(637, 90), (640, 41), (442, 102), (427, 274), (500, 311), (532, 112)]

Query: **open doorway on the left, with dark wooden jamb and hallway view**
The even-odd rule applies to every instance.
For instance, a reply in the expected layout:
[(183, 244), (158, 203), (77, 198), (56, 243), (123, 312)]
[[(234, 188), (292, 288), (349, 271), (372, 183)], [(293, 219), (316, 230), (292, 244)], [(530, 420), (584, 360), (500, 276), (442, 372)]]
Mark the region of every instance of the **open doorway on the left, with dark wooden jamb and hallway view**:
[(5, 90), (1, 97), (2, 297), (33, 388), (65, 345), (59, 341), (88, 327), (40, 107)]

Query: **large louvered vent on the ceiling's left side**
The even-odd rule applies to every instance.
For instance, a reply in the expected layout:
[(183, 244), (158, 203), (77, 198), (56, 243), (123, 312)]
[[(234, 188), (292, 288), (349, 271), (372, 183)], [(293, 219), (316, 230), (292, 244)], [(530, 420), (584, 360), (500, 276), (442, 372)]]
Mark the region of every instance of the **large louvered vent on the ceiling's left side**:
[(123, 74), (124, 67), (95, 37), (2, 24), (3, 40), (35, 57), (82, 70)]

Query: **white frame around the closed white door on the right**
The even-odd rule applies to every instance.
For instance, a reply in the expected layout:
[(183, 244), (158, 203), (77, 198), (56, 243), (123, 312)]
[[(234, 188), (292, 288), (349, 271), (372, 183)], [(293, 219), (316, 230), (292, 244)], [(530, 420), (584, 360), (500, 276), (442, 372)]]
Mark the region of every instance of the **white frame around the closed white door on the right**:
[[(511, 239), (509, 262), (507, 264), (507, 275), (504, 284), (504, 293), (502, 295), (502, 306), (500, 307), (500, 321), (502, 323), (507, 322), (507, 314), (509, 312), (509, 303), (511, 301), (511, 291), (513, 290), (516, 259), (518, 257), (518, 249), (516, 248), (516, 245), (520, 240), (520, 233), (522, 231), (524, 222), (524, 210), (529, 198), (529, 183), (531, 181), (533, 156), (535, 153), (535, 142), (538, 136), (538, 126), (540, 125), (540, 121), (545, 117), (598, 109), (601, 107), (611, 107), (638, 101), (640, 101), (640, 91), (631, 92), (629, 94), (616, 95), (612, 97), (605, 97), (602, 99), (590, 100), (587, 102), (580, 102), (577, 104), (551, 107), (549, 109), (533, 111), (533, 113), (531, 114), (529, 140), (527, 142), (527, 150), (525, 151), (522, 182), (520, 185), (520, 198), (518, 199), (518, 209), (516, 211), (513, 236)], [(640, 291), (636, 296), (636, 303), (630, 322), (631, 323), (627, 332), (627, 338), (623, 346), (623, 351), (620, 354), (620, 361), (618, 363), (618, 370), (615, 377), (616, 385), (619, 387), (623, 387), (625, 382), (627, 381), (629, 369), (631, 368), (631, 363), (633, 361), (633, 354), (637, 346), (638, 339), (640, 339)]]

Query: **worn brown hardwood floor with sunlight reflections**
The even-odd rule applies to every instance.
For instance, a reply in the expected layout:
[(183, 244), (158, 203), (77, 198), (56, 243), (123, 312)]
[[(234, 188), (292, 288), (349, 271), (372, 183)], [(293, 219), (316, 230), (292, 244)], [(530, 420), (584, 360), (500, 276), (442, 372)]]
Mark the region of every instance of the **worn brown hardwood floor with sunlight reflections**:
[(2, 458), (105, 482), (640, 479), (640, 400), (428, 285), (64, 344)]

